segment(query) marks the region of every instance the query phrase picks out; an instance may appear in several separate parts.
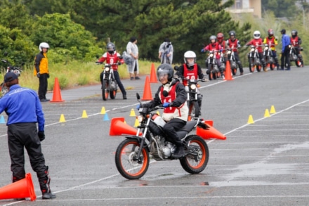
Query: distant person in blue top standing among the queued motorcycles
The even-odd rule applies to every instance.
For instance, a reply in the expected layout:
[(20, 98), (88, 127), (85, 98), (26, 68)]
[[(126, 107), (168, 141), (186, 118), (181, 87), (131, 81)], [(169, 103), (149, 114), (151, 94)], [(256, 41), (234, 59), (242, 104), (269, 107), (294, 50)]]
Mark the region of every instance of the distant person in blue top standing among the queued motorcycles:
[[(291, 44), (291, 39), (290, 37), (285, 34), (286, 30), (282, 29), (281, 30), (281, 42), (282, 42), (282, 49), (281, 49), (281, 69), (280, 70), (284, 70), (284, 65), (287, 66), (286, 70), (291, 70), (291, 63), (289, 60), (289, 44)], [(285, 60), (285, 61), (284, 61)]]

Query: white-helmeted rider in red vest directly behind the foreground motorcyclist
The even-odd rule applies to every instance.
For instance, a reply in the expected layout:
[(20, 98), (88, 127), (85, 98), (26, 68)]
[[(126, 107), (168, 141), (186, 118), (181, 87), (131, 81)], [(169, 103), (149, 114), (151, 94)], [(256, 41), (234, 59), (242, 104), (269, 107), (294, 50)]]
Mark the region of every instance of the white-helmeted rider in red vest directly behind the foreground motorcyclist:
[[(183, 60), (185, 60), (185, 63), (183, 65), (180, 65), (176, 72), (176, 75), (178, 77), (185, 77), (188, 79), (202, 79), (202, 82), (206, 81), (202, 72), (202, 68), (196, 63), (197, 56), (194, 51), (186, 51), (185, 55), (183, 56)], [(183, 85), (187, 85), (186, 79), (183, 79)], [(199, 115), (202, 115), (202, 98), (203, 95), (199, 92), (199, 89), (197, 89), (197, 103), (199, 104)]]

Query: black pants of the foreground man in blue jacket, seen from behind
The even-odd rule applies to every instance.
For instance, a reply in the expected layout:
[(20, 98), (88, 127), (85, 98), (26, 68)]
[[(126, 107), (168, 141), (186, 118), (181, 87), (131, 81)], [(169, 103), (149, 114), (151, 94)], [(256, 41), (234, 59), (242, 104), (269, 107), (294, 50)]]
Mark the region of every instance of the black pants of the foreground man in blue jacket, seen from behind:
[(27, 150), (32, 169), (37, 172), (41, 191), (48, 192), (48, 167), (45, 165), (44, 155), (41, 152), (41, 142), (39, 136), (37, 136), (37, 124), (18, 123), (8, 125), (8, 150), (11, 157), (13, 182), (25, 178), (24, 147)]

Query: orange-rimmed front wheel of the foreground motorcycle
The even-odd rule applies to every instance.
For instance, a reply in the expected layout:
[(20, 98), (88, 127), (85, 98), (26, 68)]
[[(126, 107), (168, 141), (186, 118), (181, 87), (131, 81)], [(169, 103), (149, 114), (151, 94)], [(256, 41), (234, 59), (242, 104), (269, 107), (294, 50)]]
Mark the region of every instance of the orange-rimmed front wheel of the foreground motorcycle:
[(140, 179), (149, 167), (149, 153), (146, 148), (140, 153), (140, 162), (137, 160), (140, 143), (137, 139), (125, 139), (122, 141), (115, 155), (115, 163), (118, 172), (126, 179)]

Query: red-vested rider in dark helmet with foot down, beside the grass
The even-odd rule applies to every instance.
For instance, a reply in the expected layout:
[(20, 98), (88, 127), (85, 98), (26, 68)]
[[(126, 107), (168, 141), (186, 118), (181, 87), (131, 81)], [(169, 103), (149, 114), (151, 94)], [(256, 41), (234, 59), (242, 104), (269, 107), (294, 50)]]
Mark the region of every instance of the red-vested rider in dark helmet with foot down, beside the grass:
[[(116, 80), (119, 89), (121, 90), (122, 97), (126, 99), (126, 89), (124, 89), (124, 85), (121, 83), (119, 73), (118, 73), (118, 65), (124, 63), (122, 56), (116, 51), (116, 46), (113, 43), (108, 43), (106, 45), (107, 52), (103, 54), (103, 56), (96, 63), (103, 63), (106, 60), (107, 64), (111, 65), (112, 70), (114, 70), (114, 79)], [(103, 72), (100, 74), (101, 84), (103, 82)]]

